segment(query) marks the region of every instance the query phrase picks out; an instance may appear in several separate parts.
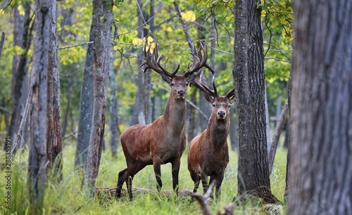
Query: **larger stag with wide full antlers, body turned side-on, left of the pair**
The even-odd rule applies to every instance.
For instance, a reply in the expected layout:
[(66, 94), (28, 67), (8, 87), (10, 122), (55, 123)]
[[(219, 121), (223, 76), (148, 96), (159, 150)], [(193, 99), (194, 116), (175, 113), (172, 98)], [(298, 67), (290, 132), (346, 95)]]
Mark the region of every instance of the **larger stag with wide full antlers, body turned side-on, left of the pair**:
[(158, 56), (155, 46), (153, 53), (151, 48), (146, 51), (144, 46), (144, 58), (147, 69), (152, 69), (161, 75), (165, 82), (171, 86), (170, 97), (165, 105), (164, 114), (158, 117), (152, 124), (136, 124), (130, 126), (120, 136), (123, 153), (125, 154), (127, 168), (118, 174), (116, 197), (121, 196), (121, 189), (126, 182), (127, 190), (132, 200), (132, 180), (135, 174), (146, 165), (153, 164), (156, 176), (156, 188), (161, 190), (161, 164), (171, 163), (172, 187), (178, 191), (178, 175), (180, 171), (180, 159), (186, 148), (186, 136), (184, 123), (186, 122), (186, 91), (187, 86), (196, 77), (197, 71), (206, 65), (207, 53), (203, 48), (194, 54), (193, 63), (183, 75), (176, 75), (180, 68), (180, 61), (175, 71), (168, 72), (161, 66), (163, 55)]

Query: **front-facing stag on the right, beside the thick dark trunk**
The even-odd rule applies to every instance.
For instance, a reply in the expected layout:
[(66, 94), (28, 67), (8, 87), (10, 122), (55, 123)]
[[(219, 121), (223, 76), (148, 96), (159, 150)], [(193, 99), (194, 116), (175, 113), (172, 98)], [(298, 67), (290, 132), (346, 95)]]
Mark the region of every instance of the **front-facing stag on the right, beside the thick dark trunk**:
[(194, 193), (198, 190), (200, 180), (203, 184), (203, 192), (206, 193), (208, 176), (210, 176), (209, 185), (216, 180), (215, 194), (219, 199), (222, 179), (229, 162), (227, 136), (230, 129), (230, 107), (235, 101), (234, 89), (226, 96), (218, 96), (214, 79), (214, 91), (212, 91), (201, 82), (202, 73), (203, 71), (199, 72), (199, 76), (191, 84), (203, 91), (206, 100), (213, 105), (213, 110), (206, 130), (189, 143), (188, 170), (194, 181)]

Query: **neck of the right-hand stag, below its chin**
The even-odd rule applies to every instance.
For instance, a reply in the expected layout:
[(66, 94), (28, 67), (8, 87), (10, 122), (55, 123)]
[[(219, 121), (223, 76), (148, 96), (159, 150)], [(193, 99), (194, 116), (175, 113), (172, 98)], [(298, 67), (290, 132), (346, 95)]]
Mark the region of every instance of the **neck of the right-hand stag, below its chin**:
[(215, 115), (211, 115), (208, 122), (207, 135), (215, 146), (224, 145), (226, 143), (229, 130), (230, 120), (228, 117), (218, 120)]

